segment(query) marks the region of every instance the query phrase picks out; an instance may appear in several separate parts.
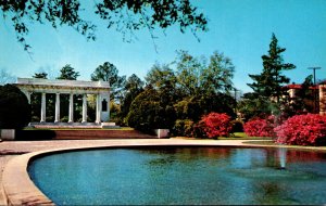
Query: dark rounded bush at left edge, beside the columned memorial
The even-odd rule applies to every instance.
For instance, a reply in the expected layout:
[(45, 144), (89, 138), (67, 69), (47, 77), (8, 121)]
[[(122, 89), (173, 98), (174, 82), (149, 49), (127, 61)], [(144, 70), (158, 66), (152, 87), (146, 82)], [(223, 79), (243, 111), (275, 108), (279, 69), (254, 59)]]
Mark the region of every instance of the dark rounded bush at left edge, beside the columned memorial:
[(30, 105), (15, 86), (0, 86), (0, 129), (20, 129), (30, 121)]

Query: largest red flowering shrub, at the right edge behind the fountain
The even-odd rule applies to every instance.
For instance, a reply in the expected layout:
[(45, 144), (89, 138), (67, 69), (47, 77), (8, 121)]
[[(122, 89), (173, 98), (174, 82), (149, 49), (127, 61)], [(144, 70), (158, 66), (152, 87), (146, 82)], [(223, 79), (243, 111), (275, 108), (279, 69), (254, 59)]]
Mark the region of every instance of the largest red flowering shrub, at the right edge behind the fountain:
[(297, 145), (326, 145), (326, 116), (296, 115), (276, 127), (276, 142)]

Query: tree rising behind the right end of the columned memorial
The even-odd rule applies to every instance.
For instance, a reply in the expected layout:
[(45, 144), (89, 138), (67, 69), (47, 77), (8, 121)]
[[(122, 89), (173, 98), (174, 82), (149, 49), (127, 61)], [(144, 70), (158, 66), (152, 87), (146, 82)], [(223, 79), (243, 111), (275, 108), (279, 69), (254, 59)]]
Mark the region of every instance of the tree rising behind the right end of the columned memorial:
[(121, 98), (118, 94), (126, 81), (126, 76), (118, 76), (117, 68), (113, 64), (104, 62), (103, 65), (99, 65), (96, 68), (96, 70), (91, 74), (90, 79), (92, 81), (109, 81), (110, 87), (113, 90), (111, 92), (112, 99), (115, 99)]

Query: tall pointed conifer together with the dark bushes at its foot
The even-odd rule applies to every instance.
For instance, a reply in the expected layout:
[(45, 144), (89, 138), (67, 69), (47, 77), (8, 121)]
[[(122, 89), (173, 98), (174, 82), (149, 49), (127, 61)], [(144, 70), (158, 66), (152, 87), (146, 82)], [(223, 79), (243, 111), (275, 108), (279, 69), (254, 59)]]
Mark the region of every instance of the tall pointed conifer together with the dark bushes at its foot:
[(285, 112), (288, 106), (288, 93), (284, 86), (290, 81), (283, 75), (284, 70), (296, 68), (293, 64), (285, 63), (283, 52), (285, 48), (278, 46), (275, 35), (272, 35), (267, 55), (263, 55), (263, 72), (260, 75), (249, 75), (253, 82), (248, 83), (253, 94), (244, 98), (239, 104), (239, 112), (246, 119), (261, 115), (277, 115)]

